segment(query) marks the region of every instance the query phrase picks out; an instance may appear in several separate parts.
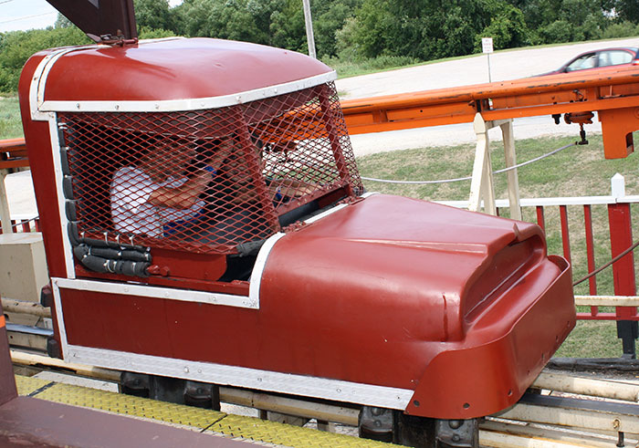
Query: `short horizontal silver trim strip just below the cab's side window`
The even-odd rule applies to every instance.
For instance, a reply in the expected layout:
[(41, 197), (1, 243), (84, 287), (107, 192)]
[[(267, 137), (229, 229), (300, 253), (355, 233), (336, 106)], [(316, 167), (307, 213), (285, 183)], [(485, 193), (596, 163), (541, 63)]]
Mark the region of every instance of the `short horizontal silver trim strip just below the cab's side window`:
[(123, 296), (140, 296), (150, 298), (163, 298), (168, 300), (182, 300), (185, 302), (198, 302), (211, 305), (224, 305), (227, 307), (259, 308), (259, 302), (254, 302), (246, 296), (234, 296), (231, 294), (211, 293), (205, 291), (193, 291), (190, 289), (173, 289), (168, 287), (148, 287), (145, 285), (131, 285), (129, 283), (108, 283), (95, 280), (80, 280), (69, 278), (52, 278), (56, 287), (77, 289), (81, 291), (95, 291)]

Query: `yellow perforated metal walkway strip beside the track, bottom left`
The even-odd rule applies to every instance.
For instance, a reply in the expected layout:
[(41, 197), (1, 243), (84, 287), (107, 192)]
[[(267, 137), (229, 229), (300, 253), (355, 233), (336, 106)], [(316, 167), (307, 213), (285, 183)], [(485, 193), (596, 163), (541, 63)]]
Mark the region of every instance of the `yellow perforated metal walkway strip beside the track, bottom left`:
[(295, 448), (392, 448), (391, 443), (358, 439), (350, 435), (322, 432), (254, 417), (229, 415), (206, 409), (133, 397), (110, 391), (55, 383), (16, 375), (20, 395), (59, 403), (142, 417), (200, 428), (229, 437), (240, 437), (262, 443), (274, 443)]

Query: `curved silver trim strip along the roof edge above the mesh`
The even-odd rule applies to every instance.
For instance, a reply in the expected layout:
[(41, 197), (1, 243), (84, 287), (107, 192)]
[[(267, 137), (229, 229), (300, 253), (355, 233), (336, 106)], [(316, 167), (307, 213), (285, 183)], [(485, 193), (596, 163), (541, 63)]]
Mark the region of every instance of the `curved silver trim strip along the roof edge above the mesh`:
[[(54, 61), (55, 62), (55, 61)], [(51, 64), (51, 67), (53, 63)], [(48, 68), (50, 69), (50, 68)], [(263, 89), (247, 90), (222, 97), (198, 99), (165, 99), (141, 101), (44, 101), (38, 110), (54, 112), (169, 112), (181, 110), (218, 109), (236, 106), (257, 99), (267, 99), (278, 95), (309, 89), (337, 79), (333, 70), (314, 77), (299, 79)]]

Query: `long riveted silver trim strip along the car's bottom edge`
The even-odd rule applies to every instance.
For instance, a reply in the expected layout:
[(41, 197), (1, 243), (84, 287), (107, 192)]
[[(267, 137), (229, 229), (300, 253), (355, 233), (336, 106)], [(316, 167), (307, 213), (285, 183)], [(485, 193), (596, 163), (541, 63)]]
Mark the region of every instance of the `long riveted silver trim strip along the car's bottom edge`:
[(74, 345), (69, 345), (68, 351), (65, 353), (65, 359), (68, 361), (106, 369), (128, 370), (171, 378), (211, 382), (220, 386), (288, 393), (398, 410), (406, 408), (414, 393), (411, 390), (372, 384)]

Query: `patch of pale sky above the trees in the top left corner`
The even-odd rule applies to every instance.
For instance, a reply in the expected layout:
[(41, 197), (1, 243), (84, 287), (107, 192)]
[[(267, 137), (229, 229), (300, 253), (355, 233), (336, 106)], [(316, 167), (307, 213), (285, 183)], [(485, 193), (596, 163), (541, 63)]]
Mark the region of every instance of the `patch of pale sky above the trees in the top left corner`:
[[(182, 0), (169, 0), (179, 5)], [(46, 0), (0, 0), (0, 32), (53, 26), (58, 11)]]

